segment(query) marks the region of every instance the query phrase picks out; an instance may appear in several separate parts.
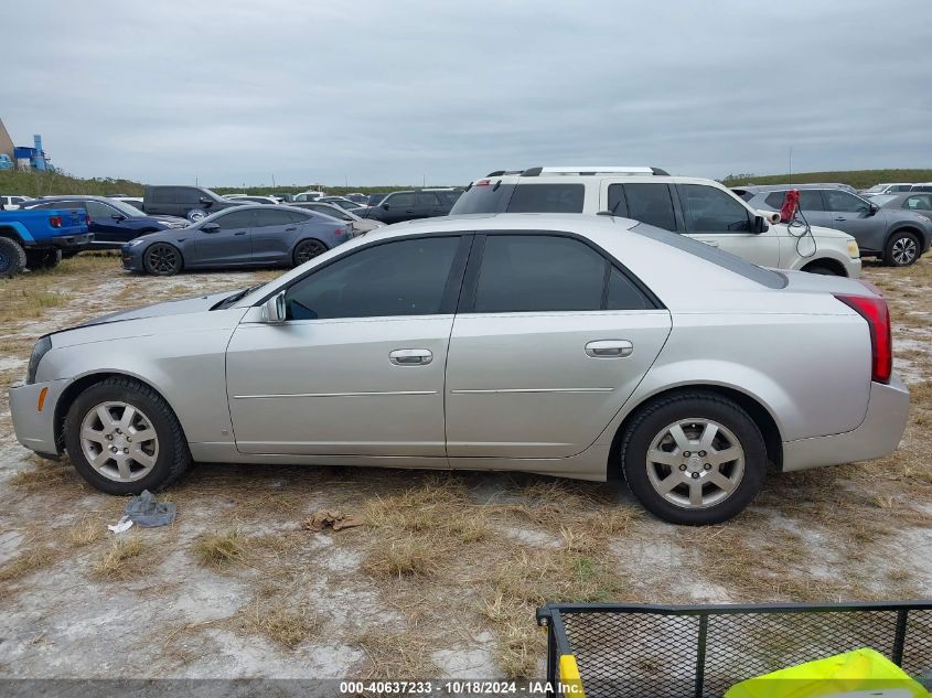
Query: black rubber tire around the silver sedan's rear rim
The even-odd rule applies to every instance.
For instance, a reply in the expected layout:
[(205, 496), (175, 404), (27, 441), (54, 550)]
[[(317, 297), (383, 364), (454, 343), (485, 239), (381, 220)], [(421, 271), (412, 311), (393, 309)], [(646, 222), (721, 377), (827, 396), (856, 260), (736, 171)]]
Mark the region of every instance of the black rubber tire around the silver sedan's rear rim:
[[(681, 505), (671, 502), (654, 487), (649, 474), (649, 470), (652, 468), (664, 468), (663, 465), (649, 466), (647, 464), (647, 451), (653, 441), (661, 437), (668, 426), (677, 421), (687, 423), (693, 419), (711, 420), (725, 427), (743, 450), (743, 473), (735, 475), (737, 477), (735, 490), (721, 501), (703, 507), (690, 507), (688, 504)], [(678, 458), (685, 452), (677, 449), (674, 457)], [(622, 473), (632, 494), (649, 512), (672, 524), (695, 526), (720, 524), (740, 514), (753, 501), (767, 475), (767, 447), (754, 421), (733, 401), (700, 390), (660, 398), (643, 407), (625, 429), (620, 455)], [(706, 458), (705, 451), (698, 451), (692, 453), (692, 455), (693, 459), (684, 458), (684, 460), (689, 460), (689, 468), (695, 465), (697, 469), (703, 469), (705, 466), (708, 470), (708, 464), (701, 463)], [(694, 460), (698, 462), (694, 464)], [(682, 463), (676, 466), (676, 470), (683, 471), (685, 468), (686, 463)], [(719, 468), (719, 465), (716, 465), (715, 470), (722, 472)], [(731, 463), (724, 468), (737, 469), (738, 465)], [(685, 482), (672, 490), (669, 496), (688, 496), (692, 487), (689, 477), (697, 479), (697, 481), (701, 479), (698, 484), (699, 492), (705, 492), (706, 488), (715, 492), (716, 485), (704, 479), (704, 470), (700, 470), (700, 472), (693, 473), (688, 471), (682, 474), (676, 473), (677, 477), (685, 480)], [(733, 475), (738, 471), (731, 470), (730, 472)], [(727, 473), (725, 474), (727, 475)], [(674, 468), (669, 466), (667, 476), (673, 475)]]

